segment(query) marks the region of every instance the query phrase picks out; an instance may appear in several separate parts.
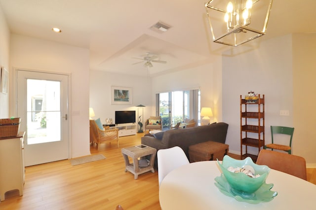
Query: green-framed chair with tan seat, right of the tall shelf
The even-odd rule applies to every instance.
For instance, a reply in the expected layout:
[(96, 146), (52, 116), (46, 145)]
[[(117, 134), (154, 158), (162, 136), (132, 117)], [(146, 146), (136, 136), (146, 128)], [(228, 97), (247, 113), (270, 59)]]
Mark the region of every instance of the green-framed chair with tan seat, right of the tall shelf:
[[(292, 145), (292, 137), (294, 133), (294, 127), (283, 127), (283, 126), (271, 126), (271, 137), (272, 137), (272, 143), (265, 145), (265, 149), (275, 149), (275, 150), (283, 150), (287, 151), (289, 154), (291, 154), (291, 145)], [(280, 145), (275, 144), (273, 136), (274, 134), (286, 134), (290, 136), (290, 144), (288, 145)]]

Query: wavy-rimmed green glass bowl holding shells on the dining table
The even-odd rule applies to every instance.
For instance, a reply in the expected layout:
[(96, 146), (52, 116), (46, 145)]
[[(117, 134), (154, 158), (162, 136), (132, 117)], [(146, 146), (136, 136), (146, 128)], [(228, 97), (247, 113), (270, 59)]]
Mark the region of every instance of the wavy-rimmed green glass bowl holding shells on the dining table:
[[(251, 197), (263, 183), (266, 182), (270, 168), (265, 165), (255, 164), (250, 157), (243, 160), (236, 160), (228, 155), (225, 155), (222, 163), (217, 160), (217, 163), (222, 170), (227, 182), (232, 188), (232, 193), (242, 197)], [(251, 178), (244, 173), (233, 173), (227, 170), (230, 166), (242, 168), (245, 165), (250, 165), (255, 170), (255, 175), (259, 174), (260, 177)]]

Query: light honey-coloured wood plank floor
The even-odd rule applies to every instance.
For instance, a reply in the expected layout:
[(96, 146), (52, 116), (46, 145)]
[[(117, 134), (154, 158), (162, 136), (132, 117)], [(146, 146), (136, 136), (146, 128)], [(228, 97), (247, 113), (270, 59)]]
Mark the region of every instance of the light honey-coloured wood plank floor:
[[(100, 150), (91, 146), (92, 154), (106, 159), (78, 166), (62, 160), (26, 167), (24, 195), (6, 193), (0, 210), (160, 210), (158, 173), (145, 173), (134, 180), (124, 172), (121, 148), (140, 144), (140, 137), (120, 137), (120, 145), (102, 144)], [(234, 158), (239, 155), (230, 154)], [(308, 169), (308, 180), (316, 184), (316, 169)]]

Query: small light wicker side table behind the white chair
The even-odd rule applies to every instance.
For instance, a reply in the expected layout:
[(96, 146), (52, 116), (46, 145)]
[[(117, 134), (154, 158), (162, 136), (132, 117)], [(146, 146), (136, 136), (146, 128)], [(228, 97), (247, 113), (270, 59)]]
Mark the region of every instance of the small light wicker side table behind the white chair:
[[(138, 175), (152, 171), (152, 173), (155, 173), (154, 170), (154, 161), (156, 157), (157, 150), (152, 147), (147, 147), (144, 149), (139, 149), (137, 147), (129, 147), (129, 148), (123, 148), (121, 150), (122, 155), (124, 157), (125, 161), (125, 172), (129, 171), (130, 173), (134, 174), (134, 179), (137, 180)], [(150, 155), (150, 160), (148, 166), (140, 167), (139, 166), (139, 159)], [(128, 157), (133, 158), (133, 162), (130, 163)]]

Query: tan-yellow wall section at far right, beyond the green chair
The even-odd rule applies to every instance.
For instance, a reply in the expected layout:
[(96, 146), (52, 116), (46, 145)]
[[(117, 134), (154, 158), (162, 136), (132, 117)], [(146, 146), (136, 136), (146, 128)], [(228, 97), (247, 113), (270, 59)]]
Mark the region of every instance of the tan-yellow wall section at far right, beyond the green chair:
[(295, 154), (316, 167), (316, 34), (293, 34)]

